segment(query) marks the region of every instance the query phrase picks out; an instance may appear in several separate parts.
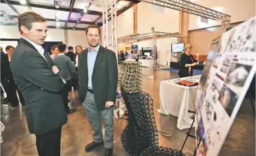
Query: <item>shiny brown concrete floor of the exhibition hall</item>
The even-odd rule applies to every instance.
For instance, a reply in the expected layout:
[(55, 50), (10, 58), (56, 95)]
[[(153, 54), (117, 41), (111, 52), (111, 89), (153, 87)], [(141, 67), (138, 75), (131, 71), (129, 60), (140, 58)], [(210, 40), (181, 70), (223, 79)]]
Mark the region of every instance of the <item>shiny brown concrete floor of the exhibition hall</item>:
[[(154, 76), (154, 78), (147, 78)], [(142, 88), (144, 92), (150, 93), (154, 100), (154, 114), (158, 130), (168, 131), (171, 137), (165, 137), (159, 134), (159, 146), (173, 149), (181, 149), (188, 129), (180, 131), (177, 128), (177, 117), (160, 115), (156, 110), (159, 109), (159, 84), (162, 80), (178, 78), (178, 73), (165, 70), (156, 70), (144, 68), (142, 70)], [(84, 108), (79, 104), (77, 92), (70, 92), (70, 106), (77, 112), (69, 115), (68, 123), (62, 127), (61, 136), (61, 155), (62, 156), (82, 156), (82, 155), (102, 155), (103, 148), (86, 153), (85, 146), (92, 141), (92, 131), (87, 120)], [(8, 105), (1, 105), (8, 106)], [(1, 107), (1, 115), (9, 108)], [(12, 109), (10, 114), (1, 118), (5, 125), (5, 131), (2, 133), (4, 142), (1, 144), (2, 156), (21, 156), (37, 155), (35, 146), (35, 136), (29, 134), (26, 125), (25, 108), (17, 107)], [(121, 143), (120, 137), (127, 124), (125, 119), (114, 118), (114, 155), (129, 155)], [(194, 134), (194, 130), (193, 130)], [(183, 149), (194, 152), (195, 139), (188, 138)], [(192, 155), (186, 153), (186, 155)], [(219, 155), (232, 156), (253, 156), (255, 155), (255, 118), (250, 105), (250, 101), (245, 99), (241, 105), (235, 122), (228, 134), (226, 141)]]

